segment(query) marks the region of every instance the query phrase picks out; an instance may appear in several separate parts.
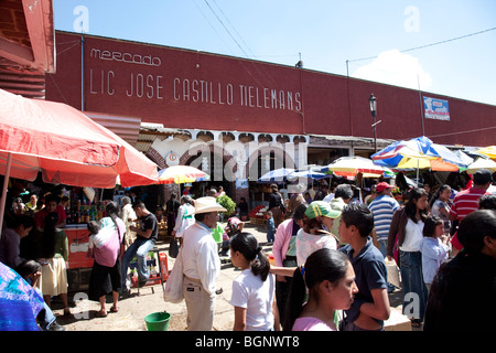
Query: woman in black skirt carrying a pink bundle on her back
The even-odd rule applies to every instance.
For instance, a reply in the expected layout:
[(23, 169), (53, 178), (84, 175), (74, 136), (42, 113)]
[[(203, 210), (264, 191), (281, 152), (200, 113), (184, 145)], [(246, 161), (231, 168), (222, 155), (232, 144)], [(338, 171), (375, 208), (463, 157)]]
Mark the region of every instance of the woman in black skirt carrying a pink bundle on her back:
[[(98, 318), (107, 315), (105, 309), (106, 296), (112, 293), (110, 312), (117, 312), (117, 302), (121, 291), (121, 252), (126, 234), (126, 225), (119, 217), (119, 206), (111, 201), (105, 208), (107, 217), (99, 224), (88, 224), (91, 233), (88, 255), (95, 259), (89, 280), (89, 299), (100, 302)], [(96, 226), (96, 228), (95, 228)]]

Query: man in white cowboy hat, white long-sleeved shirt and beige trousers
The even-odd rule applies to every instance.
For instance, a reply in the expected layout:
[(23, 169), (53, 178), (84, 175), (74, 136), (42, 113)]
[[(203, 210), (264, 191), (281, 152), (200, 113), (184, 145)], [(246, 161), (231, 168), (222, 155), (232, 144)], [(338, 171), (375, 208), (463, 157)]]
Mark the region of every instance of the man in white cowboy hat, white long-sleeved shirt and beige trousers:
[(195, 223), (183, 235), (183, 293), (188, 331), (212, 331), (215, 308), (215, 280), (220, 274), (217, 243), (212, 236), (218, 212), (226, 208), (215, 197), (195, 200)]

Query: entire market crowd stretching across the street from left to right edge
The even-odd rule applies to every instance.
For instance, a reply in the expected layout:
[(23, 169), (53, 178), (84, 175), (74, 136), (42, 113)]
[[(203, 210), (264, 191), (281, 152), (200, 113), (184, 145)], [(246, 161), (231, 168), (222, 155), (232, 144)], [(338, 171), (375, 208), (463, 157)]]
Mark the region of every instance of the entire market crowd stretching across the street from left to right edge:
[[(460, 330), (461, 322), (454, 319), (463, 312), (464, 321), (471, 323), (464, 330), (494, 329), (493, 181), (489, 171), (479, 170), (465, 190), (410, 186), (400, 202), (387, 181), (374, 182), (364, 200), (349, 183), (332, 191), (327, 184), (301, 190), (288, 200), (273, 184), (266, 223), (272, 265), (244, 222), (238, 217), (230, 217), (226, 225), (219, 222), (226, 208), (217, 203), (218, 194), (194, 199), (186, 193), (180, 200), (172, 194), (163, 217), (173, 239), (170, 252), (172, 244), (176, 247), (172, 256), (182, 252), (187, 330), (213, 329), (215, 297), (222, 292), (216, 280), (220, 258), (227, 255), (241, 270), (230, 298), (234, 330), (382, 331), (391, 310), (388, 293), (398, 286), (388, 282), (386, 263), (390, 261), (399, 267), (398, 289), (412, 328)], [(67, 238), (58, 202), (48, 195), (34, 217), (15, 214), (0, 242), (0, 270), (15, 269), (30, 284), (24, 288), (43, 330), (61, 329), (50, 310), (53, 296), (61, 297), (65, 314), (71, 314)], [(145, 256), (159, 233), (158, 215), (139, 199), (131, 203), (123, 197), (122, 207), (110, 202), (106, 211), (106, 217), (88, 224), (88, 256), (95, 259), (88, 292), (90, 300), (100, 303), (98, 317), (108, 313), (107, 295), (114, 299), (109, 312), (117, 312), (119, 300), (130, 293), (128, 274), (134, 257), (138, 286), (145, 285), (150, 277)], [(31, 231), (42, 234), (43, 240), (34, 264), (19, 252), (20, 239)]]

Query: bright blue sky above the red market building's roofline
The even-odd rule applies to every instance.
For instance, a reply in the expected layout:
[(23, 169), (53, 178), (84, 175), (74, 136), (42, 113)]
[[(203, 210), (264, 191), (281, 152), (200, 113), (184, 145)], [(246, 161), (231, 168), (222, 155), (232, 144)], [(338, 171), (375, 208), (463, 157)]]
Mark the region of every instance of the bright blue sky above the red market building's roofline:
[(494, 0), (54, 0), (54, 12), (57, 30), (85, 19), (94, 35), (291, 66), (301, 54), (309, 69), (496, 105)]

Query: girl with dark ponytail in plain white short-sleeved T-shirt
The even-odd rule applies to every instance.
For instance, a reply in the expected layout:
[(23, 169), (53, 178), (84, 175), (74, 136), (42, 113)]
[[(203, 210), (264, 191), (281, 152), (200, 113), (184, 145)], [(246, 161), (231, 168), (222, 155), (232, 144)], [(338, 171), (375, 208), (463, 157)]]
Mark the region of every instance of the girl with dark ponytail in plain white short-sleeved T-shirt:
[(230, 258), (241, 274), (233, 281), (230, 303), (235, 307), (235, 331), (280, 330), (276, 285), (270, 263), (250, 233), (230, 239)]

